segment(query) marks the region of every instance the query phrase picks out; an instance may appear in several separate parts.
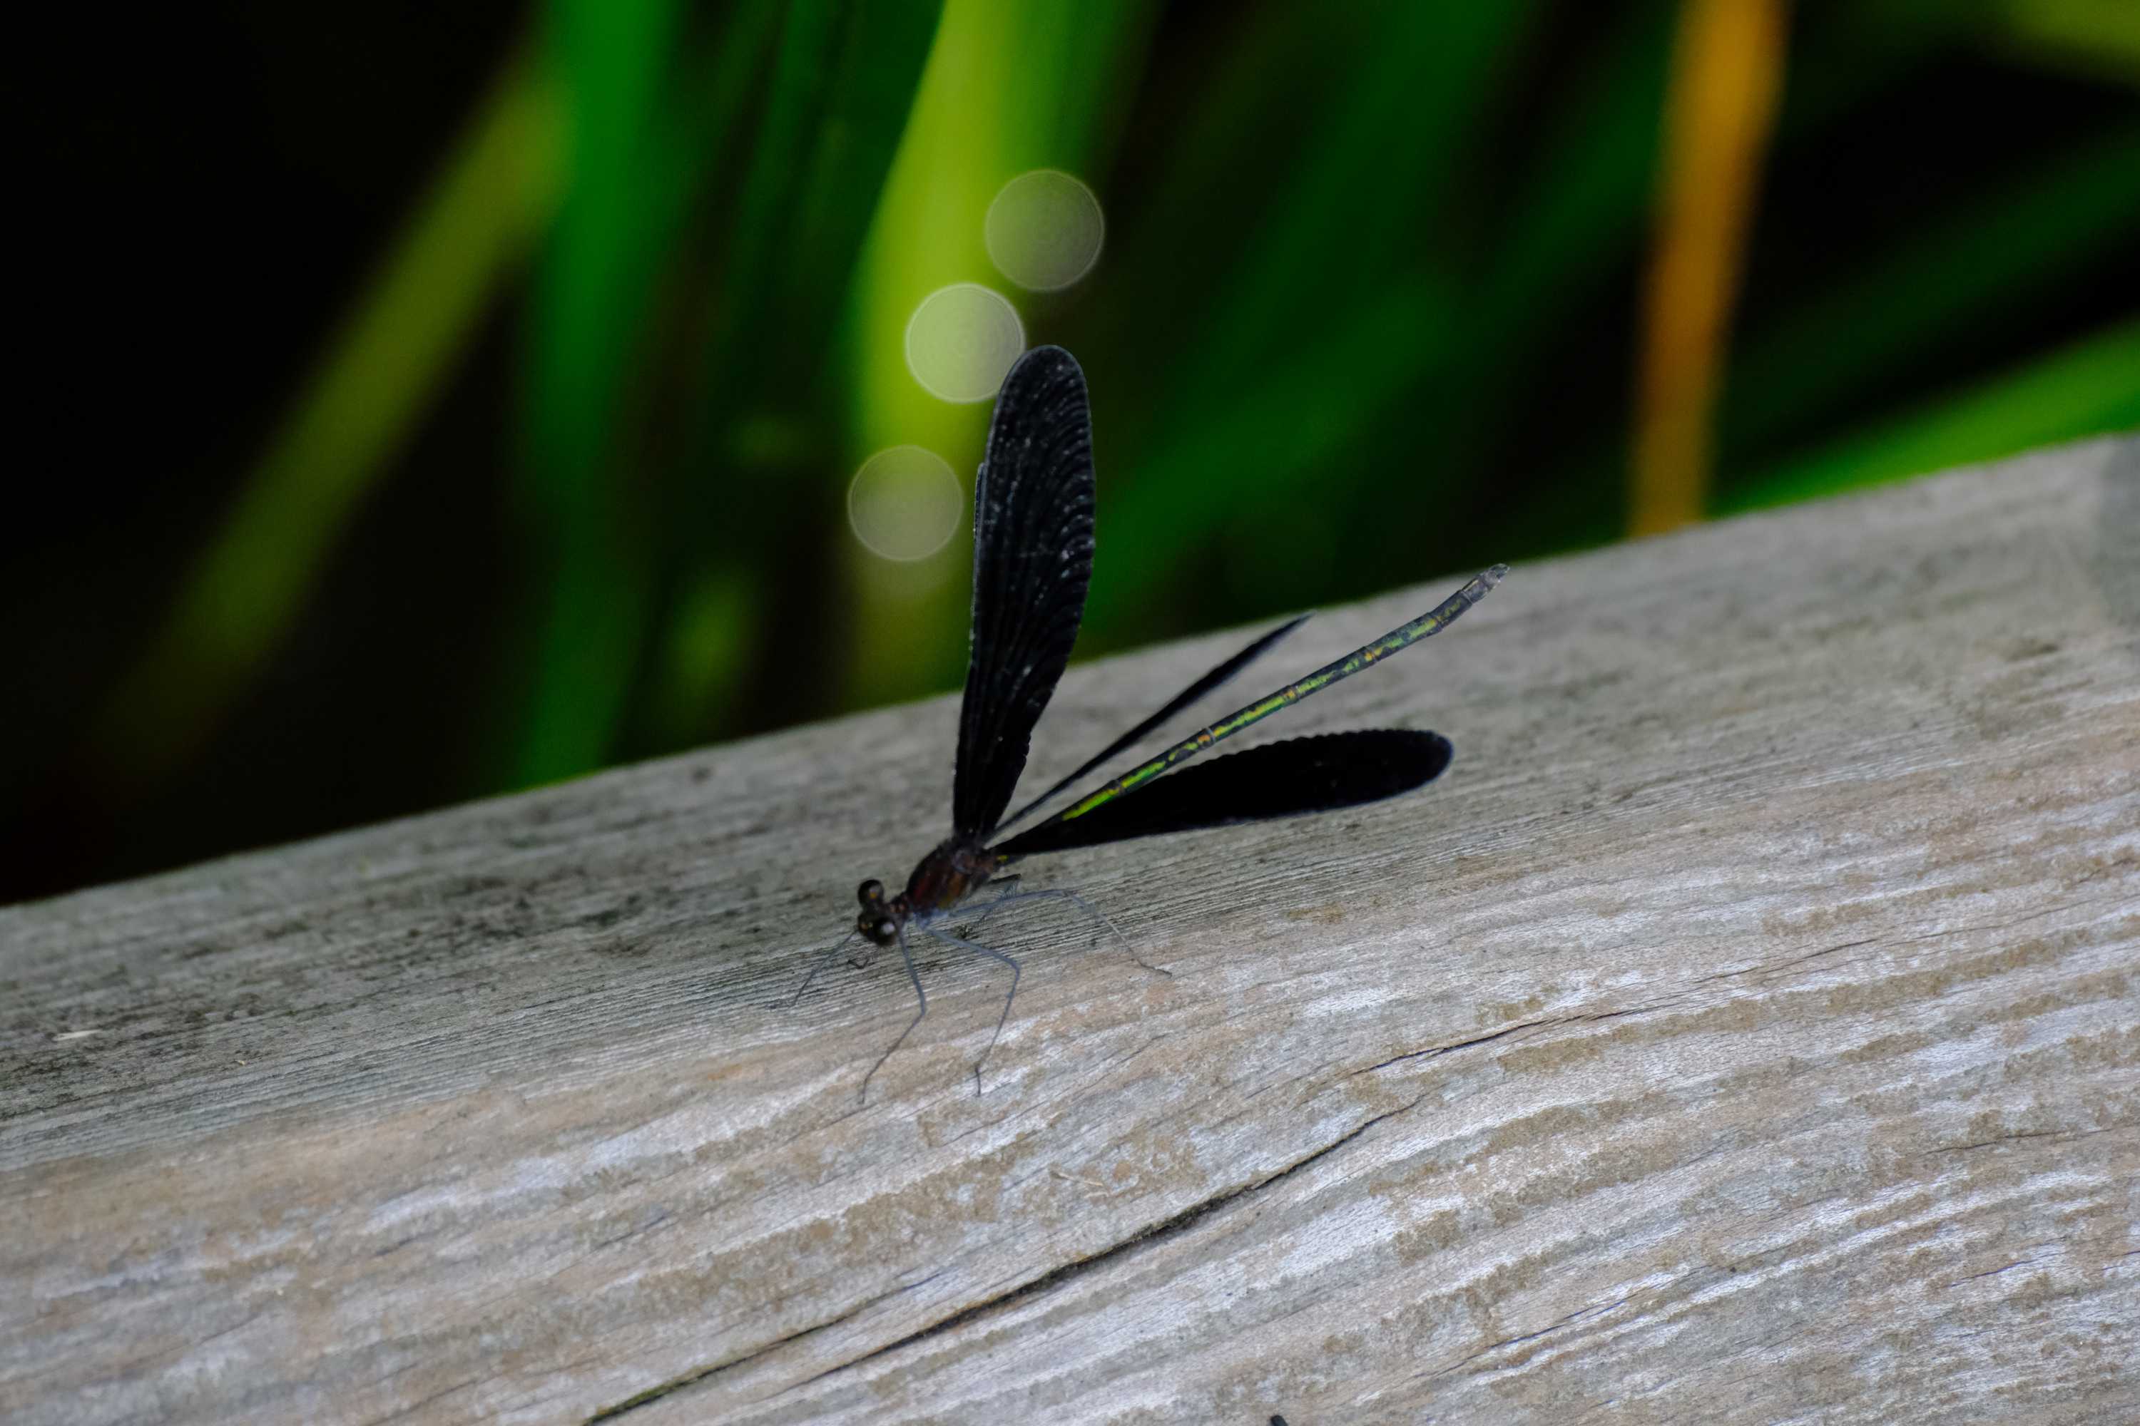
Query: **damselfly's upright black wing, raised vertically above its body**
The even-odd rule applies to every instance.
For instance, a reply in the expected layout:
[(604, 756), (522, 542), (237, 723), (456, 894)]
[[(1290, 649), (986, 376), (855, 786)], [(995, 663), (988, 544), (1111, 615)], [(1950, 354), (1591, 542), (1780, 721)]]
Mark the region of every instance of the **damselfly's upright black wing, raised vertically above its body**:
[(1070, 663), (1091, 582), (1091, 408), (1061, 346), (1019, 357), (974, 479), (974, 652), (959, 712), (952, 832), (995, 830), (1040, 710)]

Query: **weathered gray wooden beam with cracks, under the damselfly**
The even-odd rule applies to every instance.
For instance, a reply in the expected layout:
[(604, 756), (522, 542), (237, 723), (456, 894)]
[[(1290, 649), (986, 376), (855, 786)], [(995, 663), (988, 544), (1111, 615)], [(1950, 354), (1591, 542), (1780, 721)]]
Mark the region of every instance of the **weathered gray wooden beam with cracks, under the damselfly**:
[(1031, 864), (1171, 975), (1006, 911), (860, 1105), (954, 716), (0, 911), (0, 1415), (2140, 1420), (2140, 440), (1517, 567), (1265, 733), (1438, 785)]

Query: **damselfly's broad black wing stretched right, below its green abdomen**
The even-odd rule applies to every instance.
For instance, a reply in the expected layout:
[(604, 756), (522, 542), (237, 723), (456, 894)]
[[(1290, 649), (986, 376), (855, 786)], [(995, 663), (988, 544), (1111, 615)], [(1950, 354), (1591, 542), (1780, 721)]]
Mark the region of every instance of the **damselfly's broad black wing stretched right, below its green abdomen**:
[(1083, 817), (1021, 832), (995, 851), (1017, 859), (1132, 836), (1329, 812), (1423, 787), (1440, 776), (1449, 757), (1447, 738), (1408, 729), (1293, 738), (1168, 772)]

